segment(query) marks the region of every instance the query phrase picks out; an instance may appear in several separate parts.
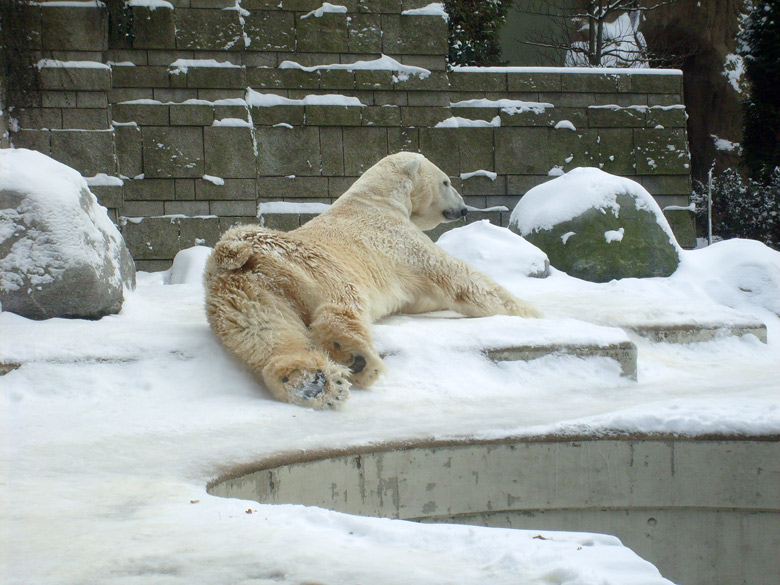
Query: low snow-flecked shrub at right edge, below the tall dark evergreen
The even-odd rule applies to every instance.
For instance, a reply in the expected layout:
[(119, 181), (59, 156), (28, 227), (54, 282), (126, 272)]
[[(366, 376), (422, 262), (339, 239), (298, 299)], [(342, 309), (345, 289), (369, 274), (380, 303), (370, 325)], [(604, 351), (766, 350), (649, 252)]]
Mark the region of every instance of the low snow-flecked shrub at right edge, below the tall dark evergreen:
[[(691, 200), (699, 225), (707, 225), (707, 186), (698, 183)], [(766, 180), (746, 179), (727, 169), (713, 178), (712, 232), (722, 239), (759, 240), (780, 250), (780, 168)]]

